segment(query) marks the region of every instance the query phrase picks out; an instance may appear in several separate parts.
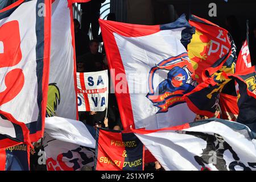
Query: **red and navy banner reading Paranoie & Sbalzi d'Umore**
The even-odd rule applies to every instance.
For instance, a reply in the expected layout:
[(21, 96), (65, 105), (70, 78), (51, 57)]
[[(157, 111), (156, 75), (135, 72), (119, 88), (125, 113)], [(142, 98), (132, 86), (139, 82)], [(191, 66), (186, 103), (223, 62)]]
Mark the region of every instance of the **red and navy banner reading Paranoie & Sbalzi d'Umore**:
[(144, 146), (134, 133), (97, 130), (97, 171), (142, 171)]

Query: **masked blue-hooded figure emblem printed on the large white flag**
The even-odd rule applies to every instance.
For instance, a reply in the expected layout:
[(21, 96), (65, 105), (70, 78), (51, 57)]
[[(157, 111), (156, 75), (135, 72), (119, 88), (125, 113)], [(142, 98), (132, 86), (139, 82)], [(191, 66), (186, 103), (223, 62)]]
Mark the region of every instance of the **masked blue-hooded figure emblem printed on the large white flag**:
[[(154, 85), (154, 75), (168, 71), (166, 79)], [(148, 76), (149, 92), (147, 98), (156, 107), (157, 113), (166, 113), (168, 108), (184, 103), (183, 94), (195, 88), (195, 74), (187, 52), (169, 57), (151, 68)], [(156, 88), (156, 89), (155, 89)]]

